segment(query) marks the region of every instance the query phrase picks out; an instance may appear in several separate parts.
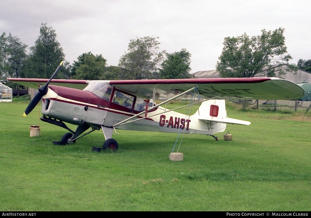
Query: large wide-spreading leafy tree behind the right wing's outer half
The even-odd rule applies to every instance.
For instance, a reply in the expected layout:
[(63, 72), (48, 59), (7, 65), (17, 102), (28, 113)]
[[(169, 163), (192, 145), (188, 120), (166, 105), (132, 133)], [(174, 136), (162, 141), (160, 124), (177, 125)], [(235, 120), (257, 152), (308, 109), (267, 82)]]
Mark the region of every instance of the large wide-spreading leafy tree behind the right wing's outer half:
[[(267, 67), (266, 75), (275, 77), (285, 74), (281, 68), (284, 64), (288, 66), (286, 70), (296, 71), (295, 65), (288, 63), (292, 57), (287, 54), (284, 30), (262, 30), (262, 35), (252, 37), (246, 33), (238, 37), (226, 37), (220, 61), (216, 65), (220, 76), (254, 77)], [(272, 67), (272, 64), (278, 67)]]

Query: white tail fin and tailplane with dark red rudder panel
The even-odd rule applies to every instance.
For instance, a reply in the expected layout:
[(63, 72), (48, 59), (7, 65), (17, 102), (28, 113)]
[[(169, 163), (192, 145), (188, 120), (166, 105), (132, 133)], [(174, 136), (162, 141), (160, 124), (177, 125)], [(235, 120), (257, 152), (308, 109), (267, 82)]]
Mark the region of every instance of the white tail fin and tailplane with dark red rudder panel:
[(227, 117), (227, 111), (225, 106), (225, 100), (207, 100), (202, 102), (201, 106), (197, 110), (196, 114), (199, 120), (207, 123), (230, 123), (249, 125), (248, 121), (238, 120)]

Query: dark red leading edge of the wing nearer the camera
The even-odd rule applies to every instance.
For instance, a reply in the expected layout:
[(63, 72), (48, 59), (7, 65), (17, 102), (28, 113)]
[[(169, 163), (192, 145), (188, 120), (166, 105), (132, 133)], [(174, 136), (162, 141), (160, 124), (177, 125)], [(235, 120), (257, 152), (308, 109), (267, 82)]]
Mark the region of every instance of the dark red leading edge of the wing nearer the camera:
[(138, 84), (217, 84), (217, 83), (259, 83), (271, 78), (204, 78), (204, 79), (166, 79), (166, 80), (112, 80), (110, 85), (138, 85)]

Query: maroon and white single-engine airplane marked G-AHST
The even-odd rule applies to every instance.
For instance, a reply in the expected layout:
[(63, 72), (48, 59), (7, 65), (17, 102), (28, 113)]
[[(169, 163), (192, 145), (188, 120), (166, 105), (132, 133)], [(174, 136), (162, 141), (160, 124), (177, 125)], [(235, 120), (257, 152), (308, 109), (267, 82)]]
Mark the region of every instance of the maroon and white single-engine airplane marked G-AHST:
[[(42, 100), (43, 117), (40, 119), (69, 131), (62, 137), (63, 144), (74, 143), (100, 129), (105, 138), (103, 149), (111, 150), (118, 149), (117, 141), (112, 138), (115, 129), (212, 135), (224, 132), (227, 123), (250, 124), (248, 121), (227, 117), (227, 98), (295, 100), (304, 96), (303, 88), (278, 78), (116, 81), (53, 79), (61, 64), (50, 79), (7, 80), (31, 88), (39, 86), (39, 92), (26, 108), (24, 116)], [(161, 107), (178, 97), (193, 97), (194, 93), (199, 94), (198, 99), (201, 99), (202, 104), (191, 116)], [(166, 100), (156, 104), (156, 97)], [(77, 129), (73, 131), (65, 123), (77, 125)]]

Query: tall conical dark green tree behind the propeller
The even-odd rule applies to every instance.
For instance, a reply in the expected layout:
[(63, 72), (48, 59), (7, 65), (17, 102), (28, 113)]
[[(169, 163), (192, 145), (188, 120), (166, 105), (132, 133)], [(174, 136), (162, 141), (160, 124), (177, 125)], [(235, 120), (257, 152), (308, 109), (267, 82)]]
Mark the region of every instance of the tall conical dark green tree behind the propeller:
[[(24, 77), (50, 78), (59, 63), (65, 60), (65, 54), (56, 36), (51, 26), (41, 24), (39, 38), (35, 41), (35, 45), (30, 47), (29, 57), (24, 63)], [(60, 72), (64, 72), (65, 68), (62, 66)], [(55, 78), (64, 77), (62, 73), (55, 76)]]

